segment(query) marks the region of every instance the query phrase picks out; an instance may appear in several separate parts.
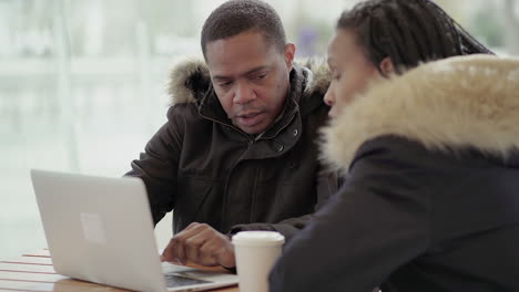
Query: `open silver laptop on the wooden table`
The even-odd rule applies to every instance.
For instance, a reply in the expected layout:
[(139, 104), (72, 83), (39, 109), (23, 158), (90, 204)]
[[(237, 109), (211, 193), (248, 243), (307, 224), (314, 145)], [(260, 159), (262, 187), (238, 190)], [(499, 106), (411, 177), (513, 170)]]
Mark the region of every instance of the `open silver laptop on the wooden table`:
[(138, 291), (201, 291), (237, 275), (161, 263), (144, 184), (31, 170), (58, 273)]

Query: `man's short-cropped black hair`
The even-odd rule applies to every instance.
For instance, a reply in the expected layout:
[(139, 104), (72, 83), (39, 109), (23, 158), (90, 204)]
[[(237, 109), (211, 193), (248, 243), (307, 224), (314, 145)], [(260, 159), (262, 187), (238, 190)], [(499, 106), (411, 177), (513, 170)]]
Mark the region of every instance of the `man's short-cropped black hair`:
[(216, 8), (202, 29), (202, 52), (206, 58), (206, 44), (227, 39), (245, 31), (261, 32), (265, 40), (283, 52), (285, 30), (277, 12), (260, 0), (231, 0)]

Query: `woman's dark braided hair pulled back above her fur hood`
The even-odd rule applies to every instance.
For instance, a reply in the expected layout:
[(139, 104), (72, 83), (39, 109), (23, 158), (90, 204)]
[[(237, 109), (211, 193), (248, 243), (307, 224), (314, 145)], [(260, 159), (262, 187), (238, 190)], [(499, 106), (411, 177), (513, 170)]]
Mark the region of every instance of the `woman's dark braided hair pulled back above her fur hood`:
[(344, 11), (337, 29), (353, 29), (379, 71), (387, 56), (401, 73), (420, 62), (492, 54), (431, 0), (367, 0)]

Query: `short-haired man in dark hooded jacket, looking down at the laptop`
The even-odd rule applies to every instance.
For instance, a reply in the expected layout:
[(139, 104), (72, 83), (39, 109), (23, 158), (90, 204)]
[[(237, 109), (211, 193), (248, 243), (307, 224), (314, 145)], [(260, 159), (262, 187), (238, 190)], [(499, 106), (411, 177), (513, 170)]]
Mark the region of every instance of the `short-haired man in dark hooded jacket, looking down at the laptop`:
[(169, 122), (128, 175), (144, 180), (155, 223), (174, 209), (163, 260), (232, 268), (231, 234), (276, 230), (289, 240), (335, 191), (315, 144), (329, 79), (293, 62), (294, 44), (262, 1), (218, 7), (201, 44), (206, 65), (174, 70)]

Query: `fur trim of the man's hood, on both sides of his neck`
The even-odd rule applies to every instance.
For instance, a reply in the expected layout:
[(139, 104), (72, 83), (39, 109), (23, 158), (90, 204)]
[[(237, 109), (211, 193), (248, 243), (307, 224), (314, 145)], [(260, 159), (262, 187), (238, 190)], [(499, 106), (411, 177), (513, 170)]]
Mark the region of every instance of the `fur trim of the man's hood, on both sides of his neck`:
[[(319, 92), (326, 93), (330, 81), (330, 72), (324, 61), (307, 60), (295, 62), (299, 64), (306, 76), (305, 95)], [(179, 62), (170, 74), (169, 94), (172, 104), (199, 102), (211, 83), (210, 72), (204, 61), (189, 59)]]

